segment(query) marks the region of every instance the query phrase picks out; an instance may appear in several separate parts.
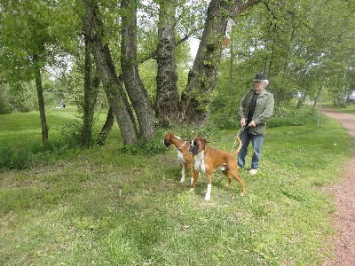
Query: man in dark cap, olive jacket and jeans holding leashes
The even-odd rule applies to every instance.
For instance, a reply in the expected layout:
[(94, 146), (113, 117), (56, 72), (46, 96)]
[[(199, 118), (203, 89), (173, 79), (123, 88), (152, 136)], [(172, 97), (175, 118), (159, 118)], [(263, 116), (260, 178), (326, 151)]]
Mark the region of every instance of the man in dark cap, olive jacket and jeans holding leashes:
[(259, 168), (261, 158), (261, 148), (264, 142), (264, 131), (266, 121), (273, 113), (273, 95), (265, 90), (269, 84), (267, 75), (264, 73), (256, 74), (254, 79), (254, 90), (249, 90), (241, 99), (238, 116), (241, 124), (241, 151), (238, 153), (238, 167), (245, 165), (245, 156), (248, 152), (248, 145), (251, 141), (254, 153), (251, 159), (249, 174), (255, 175)]

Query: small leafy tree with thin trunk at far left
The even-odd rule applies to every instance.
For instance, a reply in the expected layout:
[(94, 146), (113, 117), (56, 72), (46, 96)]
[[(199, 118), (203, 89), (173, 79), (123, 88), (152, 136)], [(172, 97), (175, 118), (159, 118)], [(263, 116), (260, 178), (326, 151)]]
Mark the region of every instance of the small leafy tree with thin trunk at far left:
[[(1, 69), (12, 84), (36, 80), (42, 141), (48, 140), (43, 100), (42, 72), (59, 53), (58, 43), (70, 39), (75, 19), (69, 4), (57, 1), (1, 1)], [(66, 22), (64, 22), (66, 21)], [(67, 21), (71, 23), (67, 25)], [(66, 43), (68, 43), (67, 41)]]

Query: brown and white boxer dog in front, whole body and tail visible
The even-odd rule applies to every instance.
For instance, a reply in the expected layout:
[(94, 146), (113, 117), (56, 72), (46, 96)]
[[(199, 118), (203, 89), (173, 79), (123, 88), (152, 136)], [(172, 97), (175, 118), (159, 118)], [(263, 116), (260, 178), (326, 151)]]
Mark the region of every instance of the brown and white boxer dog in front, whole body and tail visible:
[(238, 140), (239, 146), (233, 153), (211, 148), (207, 145), (207, 140), (201, 137), (193, 138), (193, 141), (190, 144), (189, 152), (194, 154), (194, 172), (191, 190), (194, 189), (197, 176), (201, 170), (207, 176), (207, 192), (205, 200), (210, 200), (212, 173), (216, 168), (220, 168), (223, 174), (228, 177), (228, 185), (232, 184), (232, 177), (234, 177), (241, 184), (241, 195), (244, 196), (246, 194), (244, 181), (239, 175), (238, 163), (235, 159), (235, 156), (241, 150), (241, 139), (239, 137), (234, 138)]

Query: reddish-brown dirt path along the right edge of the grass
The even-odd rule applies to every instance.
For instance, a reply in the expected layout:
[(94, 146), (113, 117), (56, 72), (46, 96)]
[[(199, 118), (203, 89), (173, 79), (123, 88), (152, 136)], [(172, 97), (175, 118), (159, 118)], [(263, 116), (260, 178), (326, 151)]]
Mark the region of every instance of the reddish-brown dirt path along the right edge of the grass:
[[(322, 113), (341, 121), (355, 141), (355, 115), (321, 108)], [(335, 229), (338, 235), (335, 241), (334, 258), (327, 259), (322, 266), (355, 265), (355, 150), (352, 158), (345, 164), (343, 180), (329, 190), (335, 194)]]

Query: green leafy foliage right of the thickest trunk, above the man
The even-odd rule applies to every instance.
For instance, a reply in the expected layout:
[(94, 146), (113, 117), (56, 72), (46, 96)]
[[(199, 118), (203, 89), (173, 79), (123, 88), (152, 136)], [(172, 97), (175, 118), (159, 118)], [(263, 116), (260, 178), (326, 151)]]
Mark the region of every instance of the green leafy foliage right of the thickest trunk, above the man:
[(298, 92), (319, 98), (323, 82), (324, 90), (347, 95), (355, 73), (353, 7), (323, 0), (256, 4), (236, 18), (220, 80), (232, 79), (238, 88), (264, 71), (276, 103), (283, 105)]

